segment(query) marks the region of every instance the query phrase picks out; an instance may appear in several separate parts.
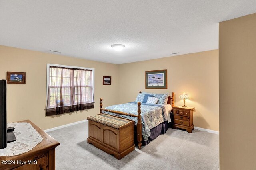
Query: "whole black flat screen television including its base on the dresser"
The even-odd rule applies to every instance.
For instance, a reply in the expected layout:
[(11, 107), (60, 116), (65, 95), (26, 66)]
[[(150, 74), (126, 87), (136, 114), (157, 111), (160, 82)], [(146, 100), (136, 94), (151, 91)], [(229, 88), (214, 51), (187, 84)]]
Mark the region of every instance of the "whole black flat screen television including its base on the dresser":
[(7, 128), (6, 119), (6, 80), (0, 80), (0, 149), (6, 148), (7, 143), (16, 141), (14, 127)]

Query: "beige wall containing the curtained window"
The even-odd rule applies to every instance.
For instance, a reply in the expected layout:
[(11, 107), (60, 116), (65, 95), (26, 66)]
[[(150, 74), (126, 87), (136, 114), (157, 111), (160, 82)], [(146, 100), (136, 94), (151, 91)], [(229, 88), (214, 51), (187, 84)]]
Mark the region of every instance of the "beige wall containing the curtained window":
[[(47, 63), (95, 68), (95, 108), (46, 117), (44, 109)], [(8, 122), (30, 119), (40, 128), (50, 129), (96, 115), (99, 113), (101, 97), (104, 98), (104, 106), (116, 104), (118, 87), (118, 66), (116, 64), (0, 46), (0, 79), (6, 79), (7, 71), (26, 72), (26, 84), (7, 85)], [(112, 76), (112, 85), (103, 86), (102, 76)]]

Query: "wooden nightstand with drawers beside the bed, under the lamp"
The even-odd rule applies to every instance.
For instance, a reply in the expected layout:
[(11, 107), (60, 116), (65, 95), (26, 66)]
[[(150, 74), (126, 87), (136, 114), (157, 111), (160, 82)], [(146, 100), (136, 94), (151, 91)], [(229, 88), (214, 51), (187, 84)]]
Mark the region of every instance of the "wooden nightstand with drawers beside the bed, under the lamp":
[(188, 133), (192, 133), (192, 130), (194, 130), (193, 111), (195, 108), (182, 106), (174, 106), (172, 108), (174, 115), (174, 123), (172, 124), (172, 128), (185, 129)]

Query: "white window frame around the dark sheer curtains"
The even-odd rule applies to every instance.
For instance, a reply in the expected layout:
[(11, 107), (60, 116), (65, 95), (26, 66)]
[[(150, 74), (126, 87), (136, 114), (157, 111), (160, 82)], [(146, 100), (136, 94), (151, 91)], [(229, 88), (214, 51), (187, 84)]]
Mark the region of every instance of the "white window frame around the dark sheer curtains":
[(78, 68), (78, 69), (84, 69), (84, 70), (92, 70), (92, 87), (93, 87), (93, 101), (95, 103), (95, 100), (94, 100), (94, 96), (95, 96), (95, 93), (94, 93), (94, 68), (87, 68), (87, 67), (77, 67), (77, 66), (66, 66), (66, 65), (60, 65), (60, 64), (49, 64), (47, 63), (47, 74), (46, 74), (46, 107), (47, 107), (47, 102), (48, 102), (48, 90), (49, 90), (49, 78), (50, 78), (50, 66), (56, 66), (56, 67), (66, 67), (66, 68)]

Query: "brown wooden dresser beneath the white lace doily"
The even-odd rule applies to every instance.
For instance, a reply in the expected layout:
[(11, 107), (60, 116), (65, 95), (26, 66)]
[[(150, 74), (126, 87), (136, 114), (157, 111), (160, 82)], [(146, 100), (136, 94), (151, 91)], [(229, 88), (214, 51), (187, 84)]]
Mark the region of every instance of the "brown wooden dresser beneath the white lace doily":
[[(25, 120), (20, 122), (30, 123), (44, 139), (26, 153), (17, 156), (0, 156), (0, 162), (6, 162), (6, 164), (0, 163), (0, 170), (54, 170), (55, 148), (60, 145), (60, 143), (31, 121)], [(26, 162), (26, 164), (24, 164), (24, 162)]]

